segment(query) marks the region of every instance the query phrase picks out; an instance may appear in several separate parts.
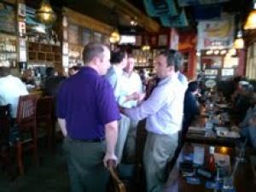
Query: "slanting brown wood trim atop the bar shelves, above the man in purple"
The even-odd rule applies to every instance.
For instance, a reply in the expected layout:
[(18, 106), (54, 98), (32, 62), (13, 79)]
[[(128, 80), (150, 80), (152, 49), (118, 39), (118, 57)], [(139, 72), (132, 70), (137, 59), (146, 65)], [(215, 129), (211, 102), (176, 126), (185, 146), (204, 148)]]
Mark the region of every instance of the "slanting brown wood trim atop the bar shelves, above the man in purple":
[(78, 12), (73, 11), (72, 9), (63, 8), (62, 14), (67, 15), (68, 22), (76, 24), (78, 26), (84, 26), (95, 32), (102, 32), (106, 35), (110, 35), (113, 31), (113, 26), (108, 26), (107, 24), (93, 19), (89, 16), (79, 14)]

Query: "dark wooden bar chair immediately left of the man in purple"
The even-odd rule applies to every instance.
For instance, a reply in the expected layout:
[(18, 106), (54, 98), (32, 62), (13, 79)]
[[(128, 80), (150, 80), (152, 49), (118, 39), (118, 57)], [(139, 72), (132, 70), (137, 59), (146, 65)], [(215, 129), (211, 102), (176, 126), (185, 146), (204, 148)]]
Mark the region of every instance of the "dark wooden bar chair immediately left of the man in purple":
[(38, 128), (44, 128), (47, 134), (48, 148), (51, 149), (53, 145), (55, 122), (54, 122), (54, 96), (44, 96), (38, 99), (37, 102), (37, 125)]

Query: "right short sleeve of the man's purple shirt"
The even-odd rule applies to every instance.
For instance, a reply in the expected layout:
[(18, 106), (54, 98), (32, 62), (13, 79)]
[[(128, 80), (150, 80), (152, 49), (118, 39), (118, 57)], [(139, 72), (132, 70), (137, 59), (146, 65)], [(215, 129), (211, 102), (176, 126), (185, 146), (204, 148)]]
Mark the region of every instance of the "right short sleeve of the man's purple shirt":
[(115, 97), (113, 96), (113, 88), (106, 81), (103, 84), (97, 94), (97, 107), (99, 112), (99, 117), (104, 125), (114, 121), (119, 120), (120, 113)]

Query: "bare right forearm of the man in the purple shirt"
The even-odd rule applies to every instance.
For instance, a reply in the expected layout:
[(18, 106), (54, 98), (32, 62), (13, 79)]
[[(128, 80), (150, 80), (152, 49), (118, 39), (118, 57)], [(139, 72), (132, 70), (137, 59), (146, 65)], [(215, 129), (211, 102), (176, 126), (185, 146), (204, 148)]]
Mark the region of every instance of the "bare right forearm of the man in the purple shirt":
[(114, 154), (115, 145), (118, 137), (118, 122), (113, 121), (108, 125), (105, 125), (105, 134), (106, 134), (106, 142), (107, 142), (107, 154)]

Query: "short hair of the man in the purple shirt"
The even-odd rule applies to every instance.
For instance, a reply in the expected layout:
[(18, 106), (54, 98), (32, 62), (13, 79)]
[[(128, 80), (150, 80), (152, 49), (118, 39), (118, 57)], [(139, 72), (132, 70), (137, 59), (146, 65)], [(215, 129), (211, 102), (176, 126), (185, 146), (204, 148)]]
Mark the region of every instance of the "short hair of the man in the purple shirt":
[(86, 44), (83, 51), (84, 65), (92, 61), (92, 59), (95, 56), (102, 56), (104, 52), (104, 47), (107, 47), (107, 46), (104, 44), (96, 43), (96, 42), (91, 42), (89, 44)]

